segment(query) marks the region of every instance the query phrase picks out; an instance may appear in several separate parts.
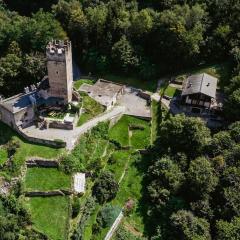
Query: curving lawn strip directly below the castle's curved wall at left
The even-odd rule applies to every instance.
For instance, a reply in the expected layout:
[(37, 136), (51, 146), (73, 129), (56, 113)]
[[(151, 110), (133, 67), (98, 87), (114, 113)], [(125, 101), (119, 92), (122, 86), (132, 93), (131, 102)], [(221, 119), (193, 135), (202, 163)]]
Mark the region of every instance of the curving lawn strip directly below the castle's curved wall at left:
[[(4, 146), (10, 140), (17, 140), (20, 147), (17, 149), (14, 155), (15, 168), (10, 175), (17, 176), (20, 173), (20, 167), (28, 157), (41, 157), (46, 159), (56, 159), (61, 155), (64, 149), (53, 148), (44, 146), (41, 144), (33, 144), (22, 137), (20, 137), (15, 131), (13, 131), (6, 124), (0, 122), (0, 146)], [(0, 173), (1, 174), (1, 173)]]

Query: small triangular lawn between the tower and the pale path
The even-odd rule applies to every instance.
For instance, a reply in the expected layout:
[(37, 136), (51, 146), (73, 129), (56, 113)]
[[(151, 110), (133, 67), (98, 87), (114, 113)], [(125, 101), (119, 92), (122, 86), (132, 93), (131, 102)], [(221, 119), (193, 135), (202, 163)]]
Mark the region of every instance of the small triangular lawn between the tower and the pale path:
[(85, 109), (85, 113), (81, 114), (78, 120), (78, 126), (81, 126), (105, 111), (104, 106), (86, 95), (83, 96), (83, 108)]

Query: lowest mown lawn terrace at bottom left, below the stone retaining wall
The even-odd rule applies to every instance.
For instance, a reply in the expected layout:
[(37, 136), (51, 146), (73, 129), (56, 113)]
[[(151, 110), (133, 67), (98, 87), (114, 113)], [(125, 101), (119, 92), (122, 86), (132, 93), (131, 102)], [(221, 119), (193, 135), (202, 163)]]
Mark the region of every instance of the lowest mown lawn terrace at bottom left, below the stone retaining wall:
[(69, 197), (33, 197), (28, 205), (34, 228), (52, 240), (68, 239)]

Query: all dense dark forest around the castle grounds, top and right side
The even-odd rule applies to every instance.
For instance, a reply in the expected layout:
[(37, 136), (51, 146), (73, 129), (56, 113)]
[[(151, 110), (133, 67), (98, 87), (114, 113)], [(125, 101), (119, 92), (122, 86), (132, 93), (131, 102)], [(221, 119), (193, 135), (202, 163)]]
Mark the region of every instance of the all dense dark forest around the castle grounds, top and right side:
[[(42, 79), (51, 39), (69, 38), (86, 73), (133, 75), (149, 85), (183, 69), (228, 61), (228, 126), (212, 133), (196, 118), (162, 121), (145, 156), (143, 211), (145, 235), (152, 240), (238, 240), (239, 26), (240, 0), (0, 0), (0, 95)], [(19, 231), (15, 215), (21, 214), (7, 211), (14, 221), (0, 219), (0, 236), (18, 239), (6, 234)]]

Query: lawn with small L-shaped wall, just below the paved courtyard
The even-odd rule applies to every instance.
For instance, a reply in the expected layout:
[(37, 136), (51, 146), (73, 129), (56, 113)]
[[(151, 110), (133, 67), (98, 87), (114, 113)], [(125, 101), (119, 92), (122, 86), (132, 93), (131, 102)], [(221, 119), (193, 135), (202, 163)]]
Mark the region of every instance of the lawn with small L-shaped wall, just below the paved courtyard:
[[(128, 127), (130, 125), (139, 125), (144, 130), (133, 130), (131, 141), (129, 142)], [(124, 115), (109, 131), (110, 139), (117, 141), (121, 146), (131, 145), (133, 148), (144, 148), (150, 143), (150, 126), (149, 122)]]

